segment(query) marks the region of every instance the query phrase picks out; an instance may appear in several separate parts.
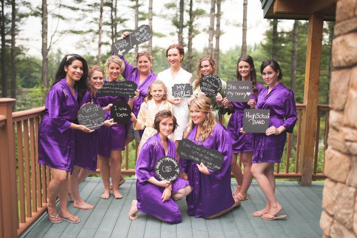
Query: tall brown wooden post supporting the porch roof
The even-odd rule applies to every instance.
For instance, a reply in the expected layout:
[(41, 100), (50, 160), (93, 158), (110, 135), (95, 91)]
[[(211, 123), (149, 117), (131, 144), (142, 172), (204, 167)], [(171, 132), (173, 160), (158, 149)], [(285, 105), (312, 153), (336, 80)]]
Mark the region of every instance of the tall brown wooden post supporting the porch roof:
[(302, 114), (299, 184), (311, 186), (312, 161), (316, 133), (317, 102), (320, 77), (323, 15), (313, 13), (309, 16), (305, 67), (305, 88), (303, 103), (306, 110)]

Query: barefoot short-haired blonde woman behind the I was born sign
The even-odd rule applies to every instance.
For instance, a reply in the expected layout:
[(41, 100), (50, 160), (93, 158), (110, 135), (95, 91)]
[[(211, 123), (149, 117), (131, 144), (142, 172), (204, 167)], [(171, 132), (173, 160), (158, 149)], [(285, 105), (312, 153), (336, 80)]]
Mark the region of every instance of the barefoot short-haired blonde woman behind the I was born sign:
[[(124, 71), (124, 63), (118, 56), (110, 56), (106, 63), (108, 81), (119, 81), (119, 75)], [(138, 90), (135, 91), (135, 97), (139, 95)], [(124, 97), (99, 97), (101, 106), (107, 106), (118, 100), (123, 100), (132, 107), (134, 98)], [(106, 119), (110, 119), (110, 111), (106, 113)], [(124, 150), (124, 142), (126, 139), (125, 126), (117, 124), (112, 127), (101, 127), (98, 129), (98, 158), (101, 161), (100, 172), (104, 184), (104, 193), (101, 198), (108, 199), (110, 195), (109, 177), (112, 177), (113, 195), (116, 199), (122, 198), (119, 192), (119, 186), (125, 182), (121, 176), (121, 151)], [(121, 179), (120, 179), (121, 178)]]

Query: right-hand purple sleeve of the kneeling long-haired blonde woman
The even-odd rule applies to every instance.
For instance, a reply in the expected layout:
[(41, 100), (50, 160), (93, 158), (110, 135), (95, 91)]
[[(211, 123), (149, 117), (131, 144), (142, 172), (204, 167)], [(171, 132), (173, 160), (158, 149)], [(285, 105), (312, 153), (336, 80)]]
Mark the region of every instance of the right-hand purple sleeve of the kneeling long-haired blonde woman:
[[(216, 127), (218, 126), (219, 125), (216, 125)], [(233, 148), (231, 138), (226, 130), (221, 128), (221, 130), (218, 130), (215, 134), (217, 150), (223, 155), (222, 168), (216, 171), (208, 169), (208, 171), (217, 179), (222, 180), (227, 175), (227, 173), (231, 174)]]

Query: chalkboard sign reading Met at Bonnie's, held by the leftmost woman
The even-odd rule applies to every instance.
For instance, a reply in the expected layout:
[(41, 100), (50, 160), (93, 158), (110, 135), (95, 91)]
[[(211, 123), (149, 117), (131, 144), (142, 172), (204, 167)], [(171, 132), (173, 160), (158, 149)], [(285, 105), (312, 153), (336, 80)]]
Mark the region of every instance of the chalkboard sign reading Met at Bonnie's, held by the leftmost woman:
[(104, 125), (105, 116), (103, 109), (94, 103), (82, 106), (78, 113), (77, 119), (79, 124), (90, 130), (97, 130)]

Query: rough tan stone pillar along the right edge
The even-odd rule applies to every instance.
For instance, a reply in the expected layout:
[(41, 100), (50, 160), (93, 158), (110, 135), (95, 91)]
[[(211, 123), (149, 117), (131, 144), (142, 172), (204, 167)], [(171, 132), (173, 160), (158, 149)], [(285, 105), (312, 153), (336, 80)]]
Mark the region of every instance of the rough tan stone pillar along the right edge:
[(357, 237), (357, 0), (338, 0), (330, 84), (329, 148), (320, 227), (324, 237)]

